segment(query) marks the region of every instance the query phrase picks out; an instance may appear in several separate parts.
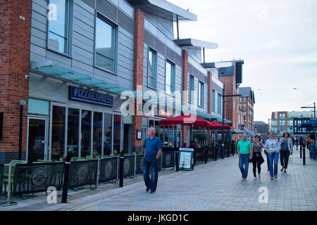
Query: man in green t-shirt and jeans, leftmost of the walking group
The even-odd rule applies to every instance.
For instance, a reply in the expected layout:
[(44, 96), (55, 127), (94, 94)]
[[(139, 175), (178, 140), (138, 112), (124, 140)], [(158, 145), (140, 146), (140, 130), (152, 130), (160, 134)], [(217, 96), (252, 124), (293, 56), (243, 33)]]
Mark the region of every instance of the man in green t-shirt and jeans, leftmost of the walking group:
[(248, 176), (249, 160), (251, 160), (253, 153), (251, 141), (247, 140), (247, 134), (245, 133), (242, 136), (242, 140), (237, 142), (237, 155), (239, 155), (239, 168), (242, 173), (242, 179), (246, 180)]

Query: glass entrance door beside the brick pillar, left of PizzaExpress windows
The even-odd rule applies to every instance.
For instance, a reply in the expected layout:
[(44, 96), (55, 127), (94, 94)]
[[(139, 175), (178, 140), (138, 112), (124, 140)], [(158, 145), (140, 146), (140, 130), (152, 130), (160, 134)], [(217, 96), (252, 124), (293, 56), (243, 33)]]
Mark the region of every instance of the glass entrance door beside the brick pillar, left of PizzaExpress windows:
[(47, 118), (28, 117), (27, 162), (47, 160)]

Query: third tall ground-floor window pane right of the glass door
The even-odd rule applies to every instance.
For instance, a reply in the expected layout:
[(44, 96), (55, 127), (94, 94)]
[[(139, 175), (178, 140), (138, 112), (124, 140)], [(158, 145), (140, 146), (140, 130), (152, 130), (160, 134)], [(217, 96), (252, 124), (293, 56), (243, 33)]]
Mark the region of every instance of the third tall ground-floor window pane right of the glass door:
[(92, 112), (82, 110), (82, 141), (81, 141), (81, 157), (85, 158), (91, 155), (92, 141)]

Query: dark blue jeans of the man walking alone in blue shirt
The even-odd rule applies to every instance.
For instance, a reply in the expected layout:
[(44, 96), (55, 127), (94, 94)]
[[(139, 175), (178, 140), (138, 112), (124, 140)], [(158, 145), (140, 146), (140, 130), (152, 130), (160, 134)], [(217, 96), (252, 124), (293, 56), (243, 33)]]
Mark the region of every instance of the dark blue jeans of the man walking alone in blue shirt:
[[(151, 168), (151, 179), (149, 179), (149, 170)], [(156, 191), (157, 180), (159, 179), (159, 162), (152, 160), (151, 162), (143, 160), (143, 178), (144, 183), (147, 188), (150, 188), (151, 191)]]

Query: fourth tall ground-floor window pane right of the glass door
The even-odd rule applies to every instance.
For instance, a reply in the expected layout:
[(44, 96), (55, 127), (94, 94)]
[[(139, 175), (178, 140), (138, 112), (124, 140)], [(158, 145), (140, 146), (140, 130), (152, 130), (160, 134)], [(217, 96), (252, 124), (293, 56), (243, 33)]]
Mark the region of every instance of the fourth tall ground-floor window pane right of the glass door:
[(92, 155), (101, 155), (102, 148), (102, 113), (94, 112), (94, 132), (92, 142)]

